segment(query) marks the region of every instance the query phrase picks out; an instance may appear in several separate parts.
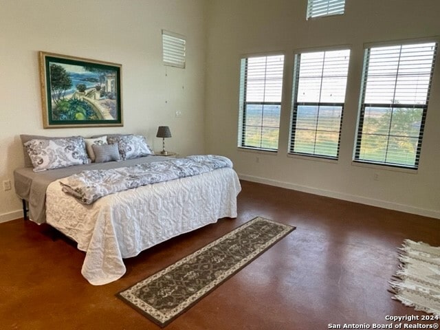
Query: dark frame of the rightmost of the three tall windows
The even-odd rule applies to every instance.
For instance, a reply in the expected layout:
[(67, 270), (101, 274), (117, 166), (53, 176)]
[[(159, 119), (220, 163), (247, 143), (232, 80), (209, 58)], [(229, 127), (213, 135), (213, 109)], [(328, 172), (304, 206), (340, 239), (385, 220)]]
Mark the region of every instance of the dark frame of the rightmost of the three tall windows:
[[(366, 98), (366, 82), (368, 80), (368, 69), (369, 69), (369, 63), (371, 60), (371, 49), (373, 48), (380, 48), (380, 47), (404, 47), (408, 45), (421, 45), (424, 43), (434, 43), (434, 54), (432, 58), (431, 68), (430, 68), (430, 78), (428, 83), (428, 89), (426, 93), (426, 101), (424, 104), (417, 104), (417, 103), (396, 103), (393, 100), (392, 103), (373, 103), (365, 102)], [(434, 78), (434, 67), (436, 64), (437, 56), (439, 51), (439, 40), (437, 38), (425, 38), (425, 39), (410, 39), (410, 40), (404, 40), (404, 41), (389, 41), (389, 42), (382, 42), (382, 43), (366, 43), (364, 44), (364, 61), (363, 61), (363, 67), (362, 67), (362, 76), (361, 76), (361, 89), (360, 89), (360, 98), (359, 98), (359, 106), (358, 106), (358, 120), (357, 120), (357, 126), (355, 131), (355, 143), (353, 147), (353, 164), (354, 165), (363, 165), (363, 166), (380, 166), (384, 169), (395, 169), (395, 170), (408, 170), (410, 172), (416, 172), (419, 169), (419, 163), (421, 158), (421, 145), (423, 142), (423, 133), (425, 130), (426, 125), (426, 116), (428, 113), (428, 105), (430, 100), (430, 92), (432, 90), (432, 80)], [(401, 52), (401, 50), (400, 50)], [(399, 62), (397, 65), (400, 63)], [(396, 75), (396, 80), (399, 77), (399, 75)], [(394, 85), (395, 88), (396, 85)], [(417, 141), (417, 148), (415, 151), (415, 163), (413, 166), (405, 165), (405, 164), (398, 164), (393, 162), (378, 162), (374, 160), (368, 160), (368, 159), (360, 159), (360, 153), (361, 153), (361, 145), (362, 145), (362, 130), (364, 127), (364, 121), (365, 121), (365, 109), (366, 108), (382, 108), (382, 109), (391, 109), (391, 115), (394, 113), (394, 109), (422, 109), (422, 115), (421, 115), (421, 122), (420, 122), (420, 129), (419, 129), (419, 136)], [(390, 120), (391, 122), (391, 120)], [(391, 135), (388, 132), (387, 141), (390, 140), (390, 137), (397, 137), (397, 135)], [(388, 146), (386, 148), (388, 152)]]

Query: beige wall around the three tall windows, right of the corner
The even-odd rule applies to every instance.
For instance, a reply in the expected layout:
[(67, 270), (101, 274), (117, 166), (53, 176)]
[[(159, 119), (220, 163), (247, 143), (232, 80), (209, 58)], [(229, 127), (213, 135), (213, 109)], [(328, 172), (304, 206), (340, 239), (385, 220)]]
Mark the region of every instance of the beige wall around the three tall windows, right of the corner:
[[(352, 164), (364, 43), (440, 35), (439, 0), (347, 0), (340, 17), (305, 20), (306, 0), (212, 0), (208, 6), (206, 140), (244, 179), (440, 218), (440, 63), (417, 173)], [(336, 163), (287, 156), (294, 50), (349, 45), (351, 63)], [(239, 58), (283, 52), (279, 151), (236, 148)], [(438, 56), (440, 57), (440, 56)], [(375, 175), (378, 180), (374, 180)]]

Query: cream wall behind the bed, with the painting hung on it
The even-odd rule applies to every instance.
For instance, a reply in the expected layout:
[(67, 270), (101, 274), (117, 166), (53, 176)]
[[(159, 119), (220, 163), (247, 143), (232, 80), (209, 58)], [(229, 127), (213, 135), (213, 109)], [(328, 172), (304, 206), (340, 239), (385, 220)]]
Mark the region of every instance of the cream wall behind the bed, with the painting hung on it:
[[(3, 180), (13, 184), (14, 168), (23, 166), (21, 133), (140, 133), (160, 150), (157, 126), (168, 125), (168, 150), (203, 153), (203, 0), (0, 0), (0, 8), (0, 222), (21, 217), (14, 188), (1, 187)], [(162, 29), (187, 38), (186, 69), (167, 67), (168, 77)], [(40, 50), (122, 64), (124, 126), (43, 129)]]

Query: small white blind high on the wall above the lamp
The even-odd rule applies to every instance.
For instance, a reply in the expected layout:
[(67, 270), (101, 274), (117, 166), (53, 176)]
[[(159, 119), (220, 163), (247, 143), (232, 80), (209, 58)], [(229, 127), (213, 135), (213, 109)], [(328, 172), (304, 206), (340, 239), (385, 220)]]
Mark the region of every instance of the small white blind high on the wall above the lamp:
[(184, 36), (162, 30), (162, 52), (164, 65), (185, 68), (186, 40)]

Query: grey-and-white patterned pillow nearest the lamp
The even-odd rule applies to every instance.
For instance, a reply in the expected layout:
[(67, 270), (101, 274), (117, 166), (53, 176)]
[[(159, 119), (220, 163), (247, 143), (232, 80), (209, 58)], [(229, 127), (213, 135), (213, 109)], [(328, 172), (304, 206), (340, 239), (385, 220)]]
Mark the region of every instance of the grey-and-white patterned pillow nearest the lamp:
[(142, 135), (121, 135), (108, 137), (109, 144), (118, 144), (119, 153), (122, 159), (131, 159), (153, 155), (153, 151), (146, 143), (146, 138)]

